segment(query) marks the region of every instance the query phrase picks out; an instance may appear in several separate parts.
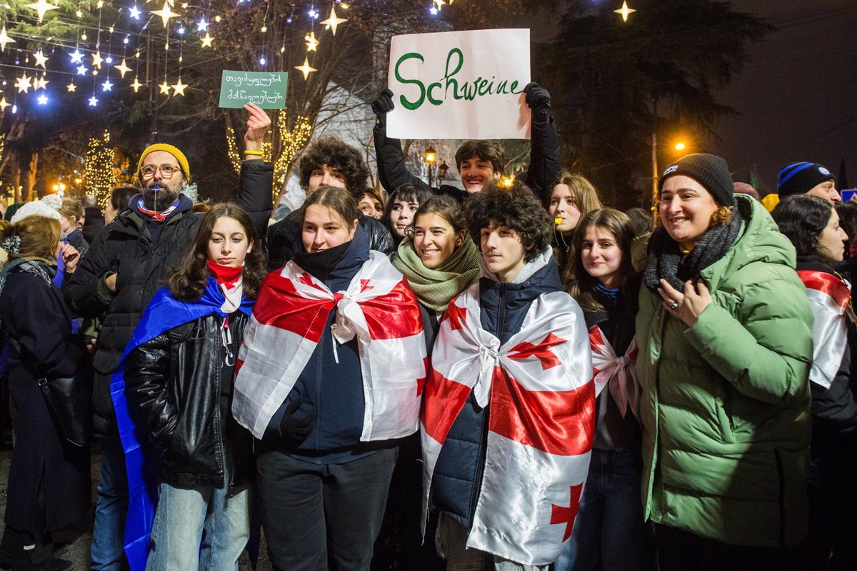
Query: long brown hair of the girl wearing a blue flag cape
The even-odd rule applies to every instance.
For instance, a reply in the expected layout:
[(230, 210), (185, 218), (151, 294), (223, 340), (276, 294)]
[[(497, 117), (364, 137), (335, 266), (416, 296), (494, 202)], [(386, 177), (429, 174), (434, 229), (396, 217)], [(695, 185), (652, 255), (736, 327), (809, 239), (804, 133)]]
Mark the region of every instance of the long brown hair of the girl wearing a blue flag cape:
[(256, 233), (253, 220), (241, 206), (233, 202), (222, 202), (213, 205), (202, 217), (200, 228), (197, 229), (193, 241), (190, 242), (188, 252), (185, 253), (172, 272), (167, 288), (177, 300), (194, 301), (202, 296), (208, 283), (211, 271), (208, 269), (208, 241), (211, 240), (214, 223), (218, 218), (230, 217), (242, 225), (247, 239), (253, 242), (253, 247), (244, 259), (244, 269), (241, 272), (243, 294), (249, 299), (254, 299), (259, 293), (259, 286), (267, 275), (265, 254), (262, 252), (262, 243)]

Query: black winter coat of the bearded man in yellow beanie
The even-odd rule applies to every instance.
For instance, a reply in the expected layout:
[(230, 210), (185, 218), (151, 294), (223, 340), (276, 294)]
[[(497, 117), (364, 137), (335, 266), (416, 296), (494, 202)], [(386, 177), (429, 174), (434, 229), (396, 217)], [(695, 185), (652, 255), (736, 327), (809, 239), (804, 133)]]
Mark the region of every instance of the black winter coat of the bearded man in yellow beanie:
[[(256, 232), (264, 235), (271, 215), (273, 164), (245, 161), (239, 187), (237, 203), (248, 211)], [(193, 240), (201, 219), (201, 214), (190, 211), (174, 214), (153, 242), (143, 217), (132, 210), (122, 211), (99, 231), (77, 271), (63, 283), (63, 294), (76, 316), (105, 316), (93, 360), (94, 429), (102, 436), (112, 436), (114, 441), (117, 437), (111, 374), (143, 310)], [(105, 286), (105, 277), (112, 272), (117, 273), (116, 293)]]

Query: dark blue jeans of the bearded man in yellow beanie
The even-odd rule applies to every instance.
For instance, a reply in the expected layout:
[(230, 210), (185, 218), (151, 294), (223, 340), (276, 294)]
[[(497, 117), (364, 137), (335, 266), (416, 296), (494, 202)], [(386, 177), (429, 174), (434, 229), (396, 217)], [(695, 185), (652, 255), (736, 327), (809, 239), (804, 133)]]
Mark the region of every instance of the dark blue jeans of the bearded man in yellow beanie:
[(123, 544), (128, 514), (128, 476), (122, 449), (107, 445), (101, 452), (101, 481), (95, 504), (92, 571), (121, 571), (127, 568)]

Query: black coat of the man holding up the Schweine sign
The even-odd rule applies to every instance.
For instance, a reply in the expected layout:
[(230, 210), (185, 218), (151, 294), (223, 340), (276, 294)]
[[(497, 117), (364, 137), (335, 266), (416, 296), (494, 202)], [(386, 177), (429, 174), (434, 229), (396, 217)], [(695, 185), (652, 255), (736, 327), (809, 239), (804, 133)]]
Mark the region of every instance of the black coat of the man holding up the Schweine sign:
[[(403, 184), (428, 188), (435, 194), (446, 194), (459, 202), (467, 198), (467, 192), (448, 184), (439, 188), (429, 187), (428, 184), (415, 175), (411, 175), (405, 167), (405, 155), (402, 143), (398, 139), (387, 137), (386, 122), (379, 121), (373, 131), (375, 136), (375, 156), (378, 158), (378, 180), (381, 186), (392, 193)], [(560, 157), (560, 135), (556, 131), (554, 117), (547, 111), (533, 111), (530, 128), (530, 166), (524, 178), (536, 197), (545, 203), (550, 196), (551, 185), (559, 178), (562, 170)]]

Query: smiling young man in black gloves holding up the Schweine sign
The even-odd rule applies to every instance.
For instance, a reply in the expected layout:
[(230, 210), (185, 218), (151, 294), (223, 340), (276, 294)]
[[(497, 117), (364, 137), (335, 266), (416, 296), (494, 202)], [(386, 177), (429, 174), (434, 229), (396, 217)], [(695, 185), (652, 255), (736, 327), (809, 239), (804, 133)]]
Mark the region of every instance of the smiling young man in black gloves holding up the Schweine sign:
[[(560, 138), (554, 118), (550, 116), (550, 93), (535, 82), (524, 87), (525, 101), (532, 111), (530, 167), (522, 181), (530, 187), (536, 197), (547, 199), (548, 184), (554, 181), (562, 169), (560, 160)], [(458, 201), (478, 193), (490, 181), (496, 181), (506, 167), (506, 153), (499, 141), (468, 140), (458, 147), (455, 163), (461, 175), (464, 191), (451, 185), (429, 187), (421, 178), (411, 175), (405, 168), (405, 156), (398, 139), (387, 137), (387, 113), (395, 108), (393, 92), (385, 89), (372, 103), (372, 111), (378, 117), (375, 124), (375, 155), (378, 159), (378, 178), (387, 192), (393, 192), (403, 184), (430, 188), (435, 194), (447, 194)]]

